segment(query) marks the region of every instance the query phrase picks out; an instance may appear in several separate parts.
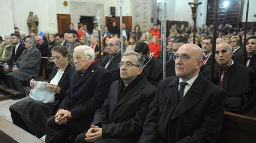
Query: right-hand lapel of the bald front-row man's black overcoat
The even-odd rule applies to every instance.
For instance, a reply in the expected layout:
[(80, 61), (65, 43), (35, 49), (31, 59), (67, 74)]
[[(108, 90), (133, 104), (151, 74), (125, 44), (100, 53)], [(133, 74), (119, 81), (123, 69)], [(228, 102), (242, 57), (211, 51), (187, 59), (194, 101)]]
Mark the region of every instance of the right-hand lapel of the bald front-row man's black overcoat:
[(192, 108), (195, 104), (197, 104), (200, 100), (202, 100), (202, 92), (204, 87), (204, 85), (202, 84), (203, 80), (205, 80), (203, 79), (203, 75), (199, 73), (198, 77), (195, 79), (194, 83), (187, 91), (185, 97), (183, 98), (183, 100), (181, 100), (175, 112), (173, 113), (171, 120), (183, 114), (188, 109)]

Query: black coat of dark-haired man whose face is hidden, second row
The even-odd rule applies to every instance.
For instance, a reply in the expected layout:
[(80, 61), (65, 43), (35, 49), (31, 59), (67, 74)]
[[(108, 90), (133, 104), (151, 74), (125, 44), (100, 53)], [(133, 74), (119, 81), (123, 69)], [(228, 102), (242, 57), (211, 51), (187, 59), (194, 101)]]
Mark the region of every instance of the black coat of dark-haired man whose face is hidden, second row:
[(163, 79), (163, 63), (158, 58), (152, 56), (152, 59), (143, 68), (142, 73), (146, 76), (146, 79), (155, 87), (158, 82)]

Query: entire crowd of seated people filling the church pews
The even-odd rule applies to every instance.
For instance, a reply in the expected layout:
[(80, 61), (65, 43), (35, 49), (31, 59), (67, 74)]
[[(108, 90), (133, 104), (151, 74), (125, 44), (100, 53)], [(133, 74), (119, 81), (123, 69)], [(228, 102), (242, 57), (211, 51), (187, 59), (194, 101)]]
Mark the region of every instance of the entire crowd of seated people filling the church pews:
[[(219, 25), (216, 52), (211, 53), (212, 25), (197, 27), (195, 44), (192, 27), (172, 25), (167, 36), (168, 73), (164, 80), (159, 25), (151, 30), (136, 25), (134, 31), (129, 31), (123, 23), (123, 56), (115, 22), (110, 28), (104, 27), (102, 35), (98, 35), (98, 26), (92, 33), (83, 23), (78, 27), (76, 31), (70, 23), (63, 34), (13, 33), (1, 40), (0, 80), (21, 92), (14, 100), (26, 97), (23, 81), (38, 76), (41, 57), (53, 60), (47, 86), (55, 93), (54, 103), (27, 98), (10, 107), (13, 124), (38, 138), (46, 135), (47, 143), (167, 143), (194, 139), (210, 143), (218, 139), (223, 111), (256, 117), (253, 27), (244, 39), (244, 28)], [(215, 70), (214, 82), (210, 83), (212, 58)], [(187, 109), (192, 103), (195, 107), (184, 113), (179, 103)], [(198, 115), (194, 115), (195, 110)], [(195, 123), (187, 131), (182, 125), (188, 123), (185, 118)]]

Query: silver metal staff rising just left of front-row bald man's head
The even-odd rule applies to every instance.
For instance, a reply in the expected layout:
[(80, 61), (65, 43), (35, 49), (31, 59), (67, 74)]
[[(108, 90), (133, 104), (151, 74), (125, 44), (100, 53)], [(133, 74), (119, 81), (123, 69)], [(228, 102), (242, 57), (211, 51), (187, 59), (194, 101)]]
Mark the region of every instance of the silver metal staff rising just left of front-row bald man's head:
[(166, 14), (167, 0), (163, 0), (163, 78), (165, 78), (166, 73)]

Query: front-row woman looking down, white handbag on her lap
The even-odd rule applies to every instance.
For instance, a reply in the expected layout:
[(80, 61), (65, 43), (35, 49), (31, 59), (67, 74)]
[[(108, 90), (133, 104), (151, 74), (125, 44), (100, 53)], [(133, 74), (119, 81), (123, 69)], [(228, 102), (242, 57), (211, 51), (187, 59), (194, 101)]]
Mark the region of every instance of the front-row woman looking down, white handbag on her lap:
[[(69, 79), (75, 71), (69, 64), (70, 54), (65, 46), (55, 46), (52, 50), (52, 58), (56, 67), (53, 68), (47, 86), (55, 93), (54, 103), (44, 104), (32, 98), (27, 98), (9, 108), (13, 124), (32, 135), (36, 135), (37, 138), (45, 135), (46, 121), (59, 108), (69, 87)], [(32, 81), (34, 80), (30, 81), (31, 88), (34, 87)]]

